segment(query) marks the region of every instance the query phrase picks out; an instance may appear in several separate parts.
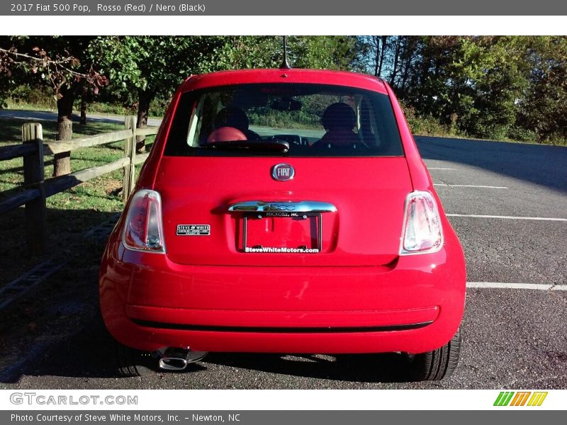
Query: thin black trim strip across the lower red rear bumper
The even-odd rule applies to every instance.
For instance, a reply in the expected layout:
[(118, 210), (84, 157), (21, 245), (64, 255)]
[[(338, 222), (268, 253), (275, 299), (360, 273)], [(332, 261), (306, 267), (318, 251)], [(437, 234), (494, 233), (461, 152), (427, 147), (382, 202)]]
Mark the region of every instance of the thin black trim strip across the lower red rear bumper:
[(179, 331), (208, 331), (208, 332), (250, 332), (262, 334), (357, 334), (362, 332), (388, 332), (420, 329), (433, 323), (420, 322), (411, 324), (393, 324), (387, 326), (357, 326), (357, 327), (232, 327), (208, 326), (202, 324), (162, 323), (149, 320), (130, 319), (133, 323), (154, 329), (171, 329)]

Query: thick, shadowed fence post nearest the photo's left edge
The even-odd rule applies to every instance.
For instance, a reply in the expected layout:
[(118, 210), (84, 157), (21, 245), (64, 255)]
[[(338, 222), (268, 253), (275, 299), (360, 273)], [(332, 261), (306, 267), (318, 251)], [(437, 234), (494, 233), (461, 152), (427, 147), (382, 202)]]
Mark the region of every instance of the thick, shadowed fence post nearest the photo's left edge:
[(26, 123), (22, 125), (22, 142), (33, 143), (37, 147), (35, 152), (23, 156), (23, 183), (27, 188), (35, 187), (40, 196), (26, 203), (26, 239), (32, 254), (43, 254), (47, 225), (45, 214), (45, 188), (43, 180), (43, 130), (41, 124)]

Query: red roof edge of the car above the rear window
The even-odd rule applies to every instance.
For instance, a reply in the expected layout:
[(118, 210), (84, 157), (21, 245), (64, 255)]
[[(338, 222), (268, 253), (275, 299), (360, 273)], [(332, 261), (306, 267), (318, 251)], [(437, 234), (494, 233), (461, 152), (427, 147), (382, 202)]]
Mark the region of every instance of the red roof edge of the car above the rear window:
[(311, 83), (355, 87), (388, 94), (386, 84), (371, 75), (323, 69), (240, 69), (193, 75), (184, 81), (181, 91), (206, 89), (232, 84)]

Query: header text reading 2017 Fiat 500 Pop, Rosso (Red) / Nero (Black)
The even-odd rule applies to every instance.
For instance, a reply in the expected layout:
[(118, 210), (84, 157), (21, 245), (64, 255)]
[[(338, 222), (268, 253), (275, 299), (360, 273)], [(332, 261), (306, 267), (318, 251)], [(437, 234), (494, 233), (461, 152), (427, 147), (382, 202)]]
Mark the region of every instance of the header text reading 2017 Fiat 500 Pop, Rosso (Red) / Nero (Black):
[[(95, 6), (95, 7), (93, 7)], [(150, 15), (152, 13), (205, 13), (205, 4), (162, 4), (162, 3), (123, 3), (96, 4), (82, 3), (11, 3), (11, 12), (24, 13), (75, 13), (89, 15), (91, 13), (124, 13), (133, 15)]]

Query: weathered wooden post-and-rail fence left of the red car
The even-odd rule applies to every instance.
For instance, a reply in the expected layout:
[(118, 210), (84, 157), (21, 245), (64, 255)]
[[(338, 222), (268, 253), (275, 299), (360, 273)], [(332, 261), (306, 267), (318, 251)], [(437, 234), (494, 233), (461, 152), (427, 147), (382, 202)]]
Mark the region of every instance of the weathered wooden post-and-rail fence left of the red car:
[[(122, 194), (126, 200), (135, 186), (135, 166), (142, 164), (148, 154), (136, 154), (136, 137), (155, 135), (157, 128), (136, 129), (136, 118), (125, 118), (125, 130), (107, 132), (82, 139), (59, 142), (43, 142), (41, 124), (26, 123), (22, 126), (22, 145), (0, 147), (0, 161), (23, 157), (23, 188), (0, 202), (0, 214), (26, 205), (26, 240), (33, 254), (45, 251), (47, 224), (46, 199), (55, 193), (89, 181), (95, 177), (124, 169)], [(69, 152), (82, 147), (107, 145), (124, 140), (124, 156), (109, 164), (82, 169), (65, 176), (45, 180), (43, 156)]]

